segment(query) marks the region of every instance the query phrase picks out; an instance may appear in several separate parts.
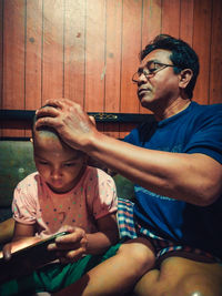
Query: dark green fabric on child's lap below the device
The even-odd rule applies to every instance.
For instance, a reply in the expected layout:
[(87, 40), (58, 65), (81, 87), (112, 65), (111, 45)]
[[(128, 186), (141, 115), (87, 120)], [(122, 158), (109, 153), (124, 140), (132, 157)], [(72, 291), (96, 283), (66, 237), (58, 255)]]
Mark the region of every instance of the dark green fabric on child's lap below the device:
[(31, 295), (37, 292), (57, 292), (77, 282), (83, 274), (99, 263), (115, 255), (121, 242), (111, 246), (103, 255), (87, 255), (77, 263), (50, 264), (33, 272), (31, 275), (10, 280), (0, 286), (1, 296)]

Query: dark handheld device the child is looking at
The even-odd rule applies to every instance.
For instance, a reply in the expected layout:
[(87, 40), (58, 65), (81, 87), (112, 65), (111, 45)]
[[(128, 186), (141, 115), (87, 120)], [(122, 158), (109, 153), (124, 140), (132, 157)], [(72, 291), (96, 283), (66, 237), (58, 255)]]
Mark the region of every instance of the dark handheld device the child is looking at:
[(11, 253), (11, 258), (0, 258), (0, 284), (12, 278), (26, 276), (38, 267), (57, 259), (53, 251), (48, 251), (48, 245), (54, 243), (59, 236), (68, 232), (54, 234), (46, 239), (29, 245)]

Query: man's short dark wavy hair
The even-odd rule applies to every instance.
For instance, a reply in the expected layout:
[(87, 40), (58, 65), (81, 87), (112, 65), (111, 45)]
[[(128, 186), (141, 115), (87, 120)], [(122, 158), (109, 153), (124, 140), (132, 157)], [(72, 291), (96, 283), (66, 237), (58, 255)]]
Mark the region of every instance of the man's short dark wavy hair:
[(200, 68), (195, 51), (181, 39), (175, 39), (168, 34), (160, 34), (141, 51), (140, 60), (142, 61), (151, 51), (157, 49), (172, 51), (170, 59), (174, 64), (174, 73), (180, 73), (183, 69), (191, 69), (193, 71), (193, 76), (185, 88), (185, 93), (189, 99), (192, 99)]

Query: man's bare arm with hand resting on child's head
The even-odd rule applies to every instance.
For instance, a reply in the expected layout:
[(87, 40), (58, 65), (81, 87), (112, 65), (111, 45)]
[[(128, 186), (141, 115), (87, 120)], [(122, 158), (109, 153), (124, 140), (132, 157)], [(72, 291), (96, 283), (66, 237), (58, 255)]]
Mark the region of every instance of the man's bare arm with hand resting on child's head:
[(138, 147), (100, 133), (79, 104), (49, 100), (39, 110), (37, 126), (53, 126), (70, 146), (157, 194), (191, 204), (213, 203), (222, 191), (222, 166), (204, 154)]

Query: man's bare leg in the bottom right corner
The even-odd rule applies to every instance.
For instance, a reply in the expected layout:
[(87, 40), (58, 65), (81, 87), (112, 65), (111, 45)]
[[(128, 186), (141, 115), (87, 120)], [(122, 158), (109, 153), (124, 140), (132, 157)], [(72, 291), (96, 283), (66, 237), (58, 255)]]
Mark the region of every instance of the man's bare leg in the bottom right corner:
[(137, 296), (222, 296), (222, 266), (169, 257), (160, 271), (148, 272), (134, 288)]

